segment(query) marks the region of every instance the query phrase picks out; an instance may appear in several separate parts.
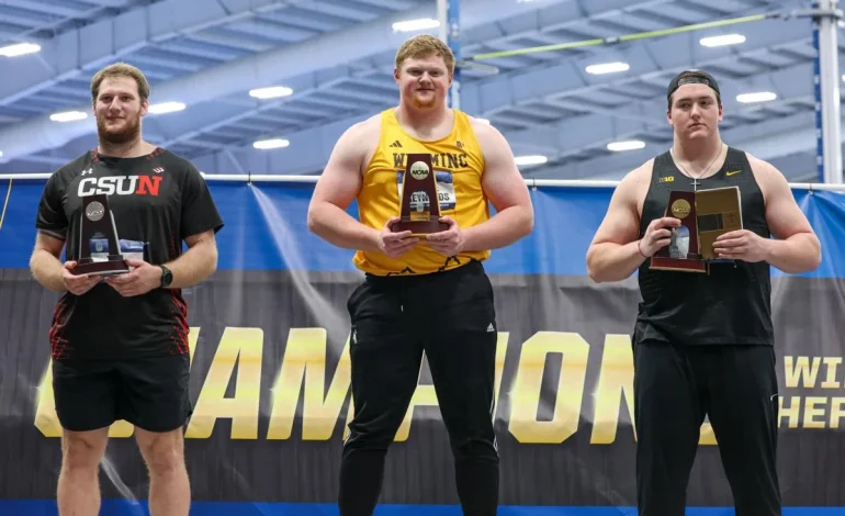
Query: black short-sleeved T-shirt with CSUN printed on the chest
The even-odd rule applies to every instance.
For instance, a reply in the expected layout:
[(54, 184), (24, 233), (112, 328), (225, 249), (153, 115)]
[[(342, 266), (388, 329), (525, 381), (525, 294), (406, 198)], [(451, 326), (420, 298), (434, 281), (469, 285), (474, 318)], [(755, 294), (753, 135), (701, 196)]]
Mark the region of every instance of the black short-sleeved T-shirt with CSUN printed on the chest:
[[(68, 257), (79, 256), (82, 198), (92, 193), (109, 194), (123, 249), (136, 249), (154, 265), (176, 260), (183, 239), (222, 225), (205, 180), (189, 161), (161, 148), (126, 158), (92, 150), (50, 177), (38, 210), (40, 232), (63, 240), (67, 233)], [(178, 288), (124, 298), (103, 282), (86, 295), (65, 295), (52, 329), (55, 360), (188, 352), (185, 303)]]

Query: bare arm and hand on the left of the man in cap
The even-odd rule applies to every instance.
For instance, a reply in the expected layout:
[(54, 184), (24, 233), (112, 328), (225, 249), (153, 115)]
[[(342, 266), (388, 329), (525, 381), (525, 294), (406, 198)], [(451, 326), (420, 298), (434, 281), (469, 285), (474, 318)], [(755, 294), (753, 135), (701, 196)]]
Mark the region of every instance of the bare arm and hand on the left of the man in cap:
[(669, 244), (671, 228), (679, 221), (664, 217), (652, 221), (642, 240), (640, 235), (640, 203), (651, 180), (653, 160), (629, 172), (619, 182), (608, 205), (607, 214), (587, 249), (587, 273), (598, 283), (621, 281), (660, 248)]

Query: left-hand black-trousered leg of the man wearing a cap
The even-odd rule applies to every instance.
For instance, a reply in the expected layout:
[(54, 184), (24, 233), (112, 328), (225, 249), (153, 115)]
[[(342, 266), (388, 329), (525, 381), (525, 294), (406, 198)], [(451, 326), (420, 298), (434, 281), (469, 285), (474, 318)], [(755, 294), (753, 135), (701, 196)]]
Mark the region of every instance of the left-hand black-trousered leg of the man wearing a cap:
[(706, 407), (689, 350), (634, 344), (636, 498), (640, 516), (684, 516)]

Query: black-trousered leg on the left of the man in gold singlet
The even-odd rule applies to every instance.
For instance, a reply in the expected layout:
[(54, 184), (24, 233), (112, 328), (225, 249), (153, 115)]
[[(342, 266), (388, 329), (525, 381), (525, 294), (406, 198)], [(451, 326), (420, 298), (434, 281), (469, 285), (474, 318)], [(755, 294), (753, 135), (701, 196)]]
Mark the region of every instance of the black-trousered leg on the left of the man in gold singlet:
[(414, 319), (402, 310), (399, 289), (394, 284), (401, 281), (368, 280), (348, 303), (354, 416), (340, 463), (338, 505), (342, 516), (373, 514), (387, 448), (419, 380), (422, 346)]

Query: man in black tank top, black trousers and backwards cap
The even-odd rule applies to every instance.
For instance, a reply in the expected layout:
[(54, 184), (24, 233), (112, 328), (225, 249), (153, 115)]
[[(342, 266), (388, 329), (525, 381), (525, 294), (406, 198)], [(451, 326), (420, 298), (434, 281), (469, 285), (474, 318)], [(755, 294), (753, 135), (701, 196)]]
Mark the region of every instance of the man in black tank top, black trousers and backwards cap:
[[(710, 75), (681, 72), (667, 100), (672, 152), (622, 179), (587, 251), (595, 281), (639, 272), (642, 301), (632, 339), (639, 516), (684, 515), (708, 416), (736, 516), (779, 516), (769, 267), (814, 269), (819, 239), (786, 178), (722, 143), (719, 86)], [(708, 273), (652, 270), (651, 257), (680, 225), (665, 215), (669, 192), (734, 186), (743, 228), (717, 239), (724, 259), (711, 262)]]

